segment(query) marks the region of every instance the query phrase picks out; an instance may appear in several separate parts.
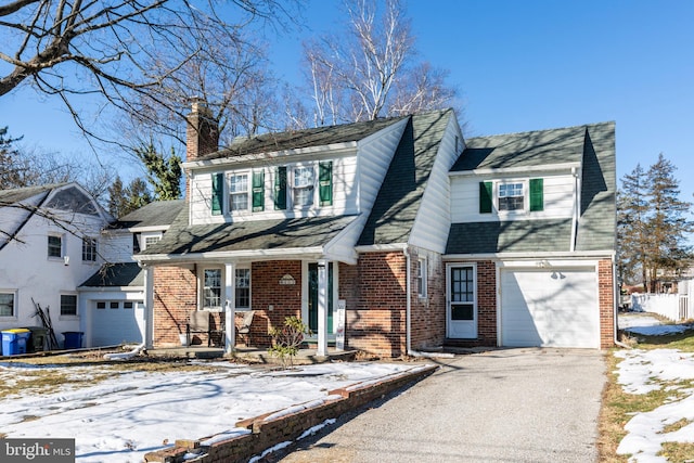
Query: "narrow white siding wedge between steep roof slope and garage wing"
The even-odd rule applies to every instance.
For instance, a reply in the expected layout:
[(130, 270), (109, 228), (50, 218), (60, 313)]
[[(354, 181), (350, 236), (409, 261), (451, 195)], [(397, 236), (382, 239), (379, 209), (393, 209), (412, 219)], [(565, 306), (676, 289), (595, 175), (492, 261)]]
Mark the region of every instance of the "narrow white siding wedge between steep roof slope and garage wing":
[[(458, 121), (454, 116), (451, 116), (410, 234), (410, 244), (437, 253), (446, 250), (451, 224), (448, 171), (460, 153), (455, 150), (455, 137), (458, 140), (463, 140)], [(458, 149), (462, 150), (462, 145)]]

